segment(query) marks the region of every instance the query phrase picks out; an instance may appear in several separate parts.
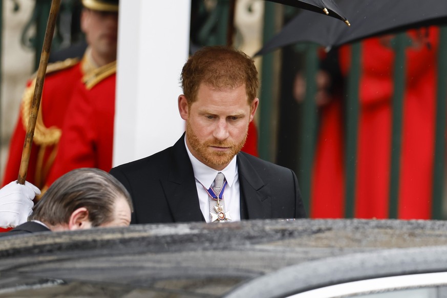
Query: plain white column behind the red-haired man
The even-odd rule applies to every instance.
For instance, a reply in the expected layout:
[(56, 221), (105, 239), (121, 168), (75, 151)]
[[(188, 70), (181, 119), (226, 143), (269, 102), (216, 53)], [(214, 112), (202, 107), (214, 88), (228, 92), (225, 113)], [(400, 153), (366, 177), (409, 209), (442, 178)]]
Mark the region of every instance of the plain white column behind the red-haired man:
[(113, 165), (171, 146), (188, 57), (190, 1), (120, 1)]

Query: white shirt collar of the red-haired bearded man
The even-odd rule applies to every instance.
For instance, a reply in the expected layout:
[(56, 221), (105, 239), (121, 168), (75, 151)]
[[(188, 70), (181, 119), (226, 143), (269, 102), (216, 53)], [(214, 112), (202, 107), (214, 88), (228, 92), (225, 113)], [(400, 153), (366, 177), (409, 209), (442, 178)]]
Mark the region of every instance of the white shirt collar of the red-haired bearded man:
[(216, 179), (217, 173), (221, 172), (225, 175), (225, 179), (228, 183), (228, 186), (231, 187), (233, 182), (236, 179), (236, 175), (238, 173), (238, 163), (236, 162), (237, 157), (233, 157), (233, 159), (230, 161), (230, 163), (222, 169), (222, 171), (217, 171), (214, 168), (211, 168), (207, 166), (206, 164), (202, 163), (200, 160), (198, 160), (190, 151), (188, 148), (188, 145), (186, 144), (186, 136), (185, 136), (185, 147), (186, 152), (188, 153), (189, 160), (191, 161), (191, 164), (193, 165), (193, 171), (194, 171), (194, 177), (206, 188), (208, 189), (211, 187), (212, 182), (214, 179)]

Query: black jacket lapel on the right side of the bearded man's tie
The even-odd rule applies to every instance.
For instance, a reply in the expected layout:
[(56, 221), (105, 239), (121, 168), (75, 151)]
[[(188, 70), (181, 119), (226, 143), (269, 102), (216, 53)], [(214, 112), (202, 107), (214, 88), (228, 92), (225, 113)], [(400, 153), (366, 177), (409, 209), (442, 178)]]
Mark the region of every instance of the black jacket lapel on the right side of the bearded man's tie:
[[(238, 154), (238, 172), (241, 189), (241, 218), (271, 218), (270, 187), (264, 184), (243, 153)], [(248, 218), (245, 218), (246, 216)]]

